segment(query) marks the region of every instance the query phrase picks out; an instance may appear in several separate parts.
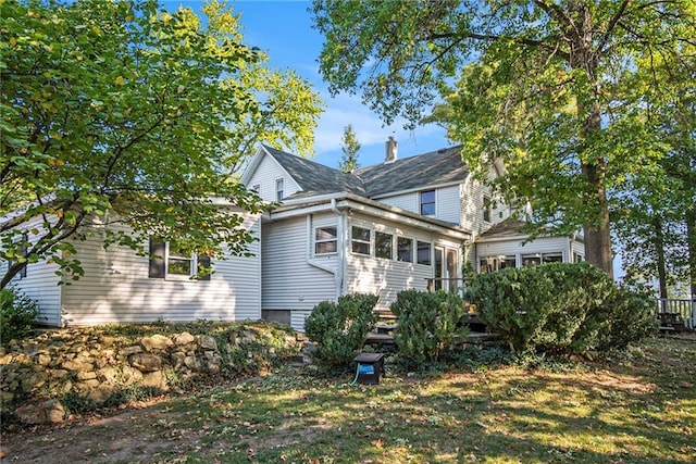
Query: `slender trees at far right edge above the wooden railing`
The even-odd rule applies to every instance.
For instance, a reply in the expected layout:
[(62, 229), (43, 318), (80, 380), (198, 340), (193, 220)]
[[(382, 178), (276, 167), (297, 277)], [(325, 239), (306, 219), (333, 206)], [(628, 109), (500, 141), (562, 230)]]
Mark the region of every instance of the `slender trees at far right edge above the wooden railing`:
[[(682, 53), (694, 57), (696, 47)], [(662, 156), (616, 193), (613, 228), (626, 277), (657, 279), (661, 298), (669, 285), (688, 281), (696, 296), (696, 67), (651, 59), (650, 77), (661, 85), (645, 92), (642, 110)]]

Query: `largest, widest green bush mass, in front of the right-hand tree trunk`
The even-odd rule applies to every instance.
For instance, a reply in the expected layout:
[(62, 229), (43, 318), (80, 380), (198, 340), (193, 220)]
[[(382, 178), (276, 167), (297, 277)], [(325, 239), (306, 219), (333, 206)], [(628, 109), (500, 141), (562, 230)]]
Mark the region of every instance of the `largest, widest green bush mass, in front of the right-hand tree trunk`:
[(645, 294), (619, 289), (587, 263), (505, 268), (480, 275), (465, 298), (510, 349), (552, 354), (625, 348), (655, 328)]

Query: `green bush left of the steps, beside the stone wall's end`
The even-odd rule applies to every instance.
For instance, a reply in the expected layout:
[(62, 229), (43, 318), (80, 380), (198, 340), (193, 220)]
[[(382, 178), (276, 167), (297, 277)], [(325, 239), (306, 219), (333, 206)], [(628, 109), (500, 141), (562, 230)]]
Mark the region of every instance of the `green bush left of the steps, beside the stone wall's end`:
[(307, 337), (316, 343), (314, 358), (328, 368), (350, 365), (365, 336), (377, 322), (375, 294), (347, 294), (333, 301), (322, 301), (304, 321)]

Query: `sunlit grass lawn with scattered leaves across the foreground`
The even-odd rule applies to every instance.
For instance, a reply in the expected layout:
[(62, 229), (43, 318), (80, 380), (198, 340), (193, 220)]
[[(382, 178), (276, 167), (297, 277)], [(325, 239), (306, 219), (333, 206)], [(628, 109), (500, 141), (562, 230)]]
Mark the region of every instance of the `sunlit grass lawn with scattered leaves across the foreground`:
[(610, 364), (351, 380), (288, 369), (3, 447), (51, 463), (696, 462), (695, 341), (650, 339)]

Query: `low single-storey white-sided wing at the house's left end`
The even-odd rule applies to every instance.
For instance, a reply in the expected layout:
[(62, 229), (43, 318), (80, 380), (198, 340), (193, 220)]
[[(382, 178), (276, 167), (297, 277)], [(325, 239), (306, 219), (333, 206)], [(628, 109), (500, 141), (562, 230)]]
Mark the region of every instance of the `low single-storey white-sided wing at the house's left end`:
[[(260, 216), (246, 212), (243, 227), (261, 236)], [(39, 306), (39, 322), (48, 326), (105, 323), (187, 322), (197, 319), (243, 321), (261, 318), (261, 246), (250, 243), (253, 256), (179, 255), (169, 243), (150, 240), (156, 258), (140, 256), (127, 247), (104, 250), (97, 236), (74, 246), (85, 271), (77, 281), (59, 277), (58, 266), (47, 261), (28, 264), (11, 286)], [(40, 227), (40, 225), (37, 225)], [(29, 227), (30, 228), (30, 227)], [(29, 240), (32, 235), (28, 235)], [(7, 263), (3, 263), (3, 267)], [(214, 273), (191, 278), (199, 266)]]

